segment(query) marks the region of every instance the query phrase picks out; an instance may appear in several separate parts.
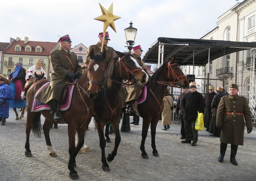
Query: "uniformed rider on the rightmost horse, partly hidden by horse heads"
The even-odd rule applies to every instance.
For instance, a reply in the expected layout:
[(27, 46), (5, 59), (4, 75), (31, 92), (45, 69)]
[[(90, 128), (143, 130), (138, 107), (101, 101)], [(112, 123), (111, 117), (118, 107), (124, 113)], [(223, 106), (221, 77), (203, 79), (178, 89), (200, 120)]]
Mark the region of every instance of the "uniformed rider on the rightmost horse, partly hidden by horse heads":
[[(148, 70), (146, 70), (144, 67), (145, 66), (144, 62), (141, 60), (142, 52), (143, 52), (143, 50), (141, 48), (141, 45), (137, 45), (137, 46), (133, 47), (133, 53), (131, 55), (133, 55), (133, 57), (138, 62), (138, 64), (141, 66), (141, 68), (150, 77)], [(125, 92), (125, 102), (127, 103), (126, 113), (130, 113), (130, 114), (136, 113), (136, 111), (134, 111), (133, 108), (131, 107), (131, 104), (135, 100), (139, 99), (140, 90), (141, 90), (140, 86), (139, 87), (126, 87), (126, 91), (127, 91), (127, 92)], [(133, 122), (131, 122), (131, 124), (138, 125), (138, 122), (139, 122), (139, 117), (136, 117), (135, 120)]]

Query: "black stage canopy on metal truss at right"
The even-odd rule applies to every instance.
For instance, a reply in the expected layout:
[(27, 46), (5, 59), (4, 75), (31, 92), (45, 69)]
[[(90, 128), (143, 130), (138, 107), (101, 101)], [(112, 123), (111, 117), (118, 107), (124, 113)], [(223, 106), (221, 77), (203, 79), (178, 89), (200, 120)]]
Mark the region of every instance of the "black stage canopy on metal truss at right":
[(193, 65), (194, 60), (195, 66), (202, 66), (208, 63), (209, 54), (211, 62), (221, 56), (252, 48), (256, 48), (256, 42), (159, 37), (145, 52), (143, 61), (158, 64), (158, 55), (159, 59), (163, 55), (163, 61), (176, 56), (180, 65)]

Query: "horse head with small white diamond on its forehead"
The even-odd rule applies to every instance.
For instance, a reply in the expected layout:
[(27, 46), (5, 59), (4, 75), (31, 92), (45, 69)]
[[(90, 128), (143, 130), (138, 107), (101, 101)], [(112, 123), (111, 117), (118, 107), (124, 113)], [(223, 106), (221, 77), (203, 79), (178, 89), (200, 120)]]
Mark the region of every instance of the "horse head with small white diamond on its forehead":
[(87, 74), (87, 84), (88, 84), (88, 97), (90, 99), (95, 99), (98, 95), (100, 88), (102, 87), (102, 81), (104, 78), (105, 64), (104, 60), (106, 58), (106, 51), (102, 53), (94, 54), (94, 50), (90, 51), (91, 61), (89, 63), (88, 69), (85, 72)]

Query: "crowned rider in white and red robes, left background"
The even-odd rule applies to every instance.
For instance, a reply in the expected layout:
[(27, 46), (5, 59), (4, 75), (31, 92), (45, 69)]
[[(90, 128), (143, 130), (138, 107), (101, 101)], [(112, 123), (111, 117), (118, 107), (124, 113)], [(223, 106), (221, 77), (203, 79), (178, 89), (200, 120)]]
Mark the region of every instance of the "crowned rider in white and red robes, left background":
[(40, 59), (37, 60), (36, 65), (33, 65), (28, 69), (28, 72), (25, 77), (27, 82), (23, 88), (23, 91), (21, 92), (21, 99), (23, 101), (25, 101), (27, 99), (26, 96), (27, 96), (28, 88), (30, 87), (30, 85), (33, 83), (33, 81), (35, 79), (35, 77), (33, 76), (35, 73), (40, 74), (40, 75), (44, 74), (43, 79), (47, 79), (46, 73), (45, 73), (44, 69), (42, 68), (42, 61)]

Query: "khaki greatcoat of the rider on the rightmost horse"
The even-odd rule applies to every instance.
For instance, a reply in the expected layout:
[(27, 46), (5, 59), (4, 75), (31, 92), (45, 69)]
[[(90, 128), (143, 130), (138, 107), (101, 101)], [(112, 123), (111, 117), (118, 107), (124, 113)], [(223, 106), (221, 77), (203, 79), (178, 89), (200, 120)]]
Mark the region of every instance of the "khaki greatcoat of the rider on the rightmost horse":
[[(144, 62), (141, 60), (141, 57), (136, 55), (135, 53), (132, 53), (135, 60), (138, 62), (138, 64), (141, 66), (141, 68), (146, 72), (146, 74), (149, 75), (148, 70), (145, 69)], [(132, 100), (138, 100), (140, 96), (140, 90), (141, 86), (139, 87), (125, 87), (125, 102), (132, 101)]]

